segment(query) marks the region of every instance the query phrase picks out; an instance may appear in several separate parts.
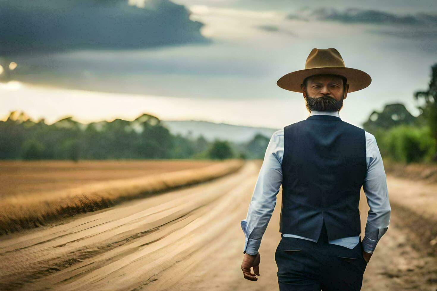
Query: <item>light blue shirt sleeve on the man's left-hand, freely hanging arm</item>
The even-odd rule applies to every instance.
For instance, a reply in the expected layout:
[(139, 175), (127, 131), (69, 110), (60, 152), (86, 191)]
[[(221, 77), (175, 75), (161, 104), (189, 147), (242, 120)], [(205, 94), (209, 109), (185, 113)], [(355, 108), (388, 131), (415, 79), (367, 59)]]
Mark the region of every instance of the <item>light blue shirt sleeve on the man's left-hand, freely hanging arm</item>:
[(284, 152), (283, 130), (272, 135), (264, 155), (264, 161), (253, 190), (246, 219), (241, 228), (246, 237), (244, 253), (256, 255), (261, 238), (276, 205), (276, 195), (282, 184), (281, 161)]

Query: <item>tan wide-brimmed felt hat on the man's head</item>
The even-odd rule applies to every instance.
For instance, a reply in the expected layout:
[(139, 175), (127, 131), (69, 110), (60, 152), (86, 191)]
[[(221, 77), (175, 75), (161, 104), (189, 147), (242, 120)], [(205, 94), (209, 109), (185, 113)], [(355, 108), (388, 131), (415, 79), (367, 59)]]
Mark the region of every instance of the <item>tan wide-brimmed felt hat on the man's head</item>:
[(343, 58), (335, 48), (313, 48), (306, 58), (305, 69), (283, 75), (277, 80), (277, 86), (282, 89), (300, 92), (300, 85), (306, 77), (318, 74), (335, 74), (347, 78), (348, 93), (366, 88), (372, 82), (368, 73), (356, 68), (347, 68)]

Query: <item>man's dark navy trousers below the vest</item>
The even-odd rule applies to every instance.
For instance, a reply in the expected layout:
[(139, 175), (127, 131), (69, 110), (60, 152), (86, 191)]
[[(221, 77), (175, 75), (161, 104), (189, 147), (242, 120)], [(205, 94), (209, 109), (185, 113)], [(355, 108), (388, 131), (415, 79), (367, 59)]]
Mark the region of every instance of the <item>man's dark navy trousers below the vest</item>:
[(279, 290), (361, 290), (367, 262), (360, 242), (352, 250), (328, 243), (326, 226), (317, 243), (282, 236), (275, 260)]

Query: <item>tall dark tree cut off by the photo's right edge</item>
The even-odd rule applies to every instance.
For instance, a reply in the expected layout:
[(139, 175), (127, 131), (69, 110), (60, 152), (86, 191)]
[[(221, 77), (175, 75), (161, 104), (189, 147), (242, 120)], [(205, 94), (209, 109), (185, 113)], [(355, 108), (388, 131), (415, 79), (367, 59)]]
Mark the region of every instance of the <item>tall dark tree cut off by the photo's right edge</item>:
[[(414, 92), (416, 100), (423, 99), (424, 104), (417, 106), (420, 116), (426, 120), (431, 130), (431, 135), (437, 142), (437, 63), (431, 66), (431, 80), (427, 91)], [(434, 161), (437, 161), (437, 150), (434, 154)]]

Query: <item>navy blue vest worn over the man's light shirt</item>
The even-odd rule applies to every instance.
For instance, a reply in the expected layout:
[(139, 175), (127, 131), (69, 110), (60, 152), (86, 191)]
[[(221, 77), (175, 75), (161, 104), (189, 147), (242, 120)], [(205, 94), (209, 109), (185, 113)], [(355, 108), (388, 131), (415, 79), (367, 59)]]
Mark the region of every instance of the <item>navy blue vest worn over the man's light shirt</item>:
[(284, 127), (281, 233), (313, 240), (323, 220), (329, 240), (361, 233), (361, 186), (367, 171), (363, 129), (332, 115)]

